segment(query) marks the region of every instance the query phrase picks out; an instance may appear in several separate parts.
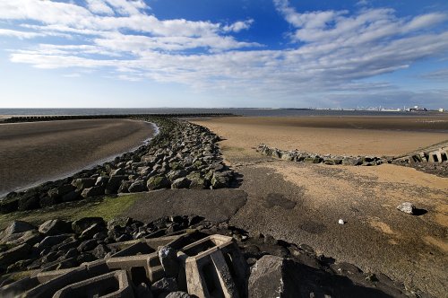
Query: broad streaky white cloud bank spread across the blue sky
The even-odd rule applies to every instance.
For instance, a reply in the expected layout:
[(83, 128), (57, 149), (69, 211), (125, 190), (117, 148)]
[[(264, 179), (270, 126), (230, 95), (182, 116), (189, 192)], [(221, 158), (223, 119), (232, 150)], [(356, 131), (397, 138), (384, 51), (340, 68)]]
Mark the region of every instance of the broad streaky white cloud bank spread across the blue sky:
[[(344, 97), (352, 104), (359, 94), (408, 94), (369, 79), (448, 52), (448, 31), (434, 29), (448, 20), (444, 13), (398, 17), (392, 9), (364, 6), (300, 13), (288, 0), (274, 0), (273, 9), (290, 26), (283, 49), (237, 39), (257, 20), (160, 20), (142, 0), (0, 0), (0, 20), (12, 24), (0, 36), (39, 40), (9, 48), (14, 63), (107, 70), (122, 80), (323, 106), (343, 106)], [(433, 93), (448, 100), (446, 91)]]

